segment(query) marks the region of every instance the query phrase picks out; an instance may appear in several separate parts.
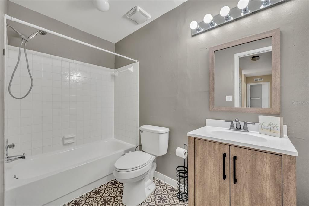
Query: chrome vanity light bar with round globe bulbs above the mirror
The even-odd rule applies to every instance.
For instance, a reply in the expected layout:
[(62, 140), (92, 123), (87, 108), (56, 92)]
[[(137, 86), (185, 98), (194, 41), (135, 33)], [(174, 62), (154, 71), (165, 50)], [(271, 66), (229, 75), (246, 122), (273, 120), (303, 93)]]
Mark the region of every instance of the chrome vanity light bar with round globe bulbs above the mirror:
[(212, 16), (211, 14), (207, 14), (203, 21), (198, 24), (196, 21), (192, 21), (190, 24), (191, 36), (207, 32), (287, 1), (290, 0), (239, 0), (237, 6), (232, 9), (228, 6), (223, 6), (218, 15)]

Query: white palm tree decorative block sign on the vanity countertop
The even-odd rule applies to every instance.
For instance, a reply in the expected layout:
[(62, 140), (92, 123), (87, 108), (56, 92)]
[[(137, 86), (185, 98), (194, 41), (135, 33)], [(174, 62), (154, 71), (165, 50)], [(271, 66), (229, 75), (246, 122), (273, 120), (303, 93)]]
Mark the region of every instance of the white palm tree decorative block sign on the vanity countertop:
[(283, 137), (283, 117), (260, 115), (259, 132), (265, 135)]

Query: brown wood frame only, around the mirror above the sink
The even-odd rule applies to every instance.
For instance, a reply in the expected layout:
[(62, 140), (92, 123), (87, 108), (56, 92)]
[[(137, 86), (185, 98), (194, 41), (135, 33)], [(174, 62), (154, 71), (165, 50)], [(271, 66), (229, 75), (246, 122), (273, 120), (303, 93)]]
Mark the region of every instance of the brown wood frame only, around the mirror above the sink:
[[(216, 107), (214, 106), (214, 52), (229, 47), (272, 37), (272, 103), (270, 108), (257, 107)], [(210, 111), (228, 111), (258, 114), (280, 114), (280, 28), (248, 36), (239, 40), (211, 47), (209, 49), (209, 109)]]

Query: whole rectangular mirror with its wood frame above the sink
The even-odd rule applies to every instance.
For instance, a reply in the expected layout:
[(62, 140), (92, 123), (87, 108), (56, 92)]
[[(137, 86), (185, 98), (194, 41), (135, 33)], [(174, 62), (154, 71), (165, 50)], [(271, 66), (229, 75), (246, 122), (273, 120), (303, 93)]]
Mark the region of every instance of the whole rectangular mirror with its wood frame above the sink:
[(280, 28), (209, 49), (210, 111), (280, 114)]

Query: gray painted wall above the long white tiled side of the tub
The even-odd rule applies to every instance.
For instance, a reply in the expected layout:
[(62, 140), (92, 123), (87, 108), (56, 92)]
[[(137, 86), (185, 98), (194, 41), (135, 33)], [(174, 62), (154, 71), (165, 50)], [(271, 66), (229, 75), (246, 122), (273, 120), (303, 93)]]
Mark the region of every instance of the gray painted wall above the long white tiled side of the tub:
[[(42, 15), (38, 12), (32, 11), (13, 2), (9, 2), (7, 14), (17, 19), (21, 19), (23, 21), (38, 25), (40, 27), (47, 28), (54, 32), (58, 32), (66, 36), (78, 39), (80, 41), (84, 41), (88, 44), (92, 44), (112, 52), (115, 51), (115, 44), (110, 41), (106, 41), (97, 36), (93, 36), (91, 34), (83, 32), (77, 28), (71, 27), (67, 24), (52, 19), (48, 16)], [(17, 22), (7, 22), (8, 24), (15, 27), (19, 32), (27, 36), (37, 31), (37, 29), (25, 26), (23, 24), (19, 24)], [(19, 47), (19, 36), (11, 28), (9, 28), (7, 31), (9, 45)], [(46, 36), (36, 36), (32, 41), (27, 44), (27, 48), (46, 54), (52, 54), (114, 69), (115, 58), (113, 54), (93, 49), (88, 46), (81, 45), (79, 43), (52, 34), (48, 34)]]

